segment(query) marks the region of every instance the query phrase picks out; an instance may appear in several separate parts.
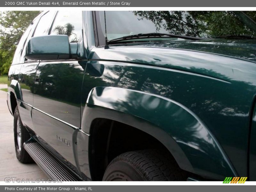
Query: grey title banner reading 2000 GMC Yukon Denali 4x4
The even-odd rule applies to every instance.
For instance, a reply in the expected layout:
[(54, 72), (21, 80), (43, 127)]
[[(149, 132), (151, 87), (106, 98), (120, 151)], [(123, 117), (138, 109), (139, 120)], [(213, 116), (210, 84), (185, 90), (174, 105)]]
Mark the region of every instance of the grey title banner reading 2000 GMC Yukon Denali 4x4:
[[(1, 7), (256, 7), (252, 0), (5, 0), (0, 2)], [(253, 8), (252, 8), (253, 10)]]

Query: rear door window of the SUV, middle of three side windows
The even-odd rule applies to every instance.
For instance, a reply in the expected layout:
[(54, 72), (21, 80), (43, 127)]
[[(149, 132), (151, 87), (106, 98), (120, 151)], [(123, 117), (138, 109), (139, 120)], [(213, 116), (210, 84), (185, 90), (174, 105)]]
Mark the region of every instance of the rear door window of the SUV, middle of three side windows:
[(48, 11), (40, 18), (33, 35), (34, 37), (48, 35), (54, 14), (54, 11)]

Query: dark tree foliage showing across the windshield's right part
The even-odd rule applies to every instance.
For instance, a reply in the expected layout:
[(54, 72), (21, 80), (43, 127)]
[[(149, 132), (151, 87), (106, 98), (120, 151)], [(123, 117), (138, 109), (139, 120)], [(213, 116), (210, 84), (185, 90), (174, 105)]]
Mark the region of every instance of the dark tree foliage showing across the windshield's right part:
[[(231, 11), (134, 11), (139, 20), (151, 20), (156, 31), (164, 28), (171, 34), (216, 37), (221, 35), (253, 35), (239, 14)], [(256, 12), (245, 12), (256, 20)]]

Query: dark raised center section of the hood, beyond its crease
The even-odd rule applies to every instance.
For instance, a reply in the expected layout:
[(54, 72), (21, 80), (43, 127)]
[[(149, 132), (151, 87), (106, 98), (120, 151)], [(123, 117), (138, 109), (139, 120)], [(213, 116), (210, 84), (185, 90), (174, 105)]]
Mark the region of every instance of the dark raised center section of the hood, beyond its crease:
[(256, 62), (256, 40), (212, 39), (198, 41), (165, 41), (143, 44), (146, 47), (162, 47), (220, 54)]

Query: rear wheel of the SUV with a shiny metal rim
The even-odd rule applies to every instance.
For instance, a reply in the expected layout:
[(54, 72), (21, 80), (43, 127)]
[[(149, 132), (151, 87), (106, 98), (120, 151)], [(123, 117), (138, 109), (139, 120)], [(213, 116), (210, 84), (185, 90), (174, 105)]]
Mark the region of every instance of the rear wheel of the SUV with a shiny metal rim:
[(13, 116), (14, 145), (16, 157), (21, 163), (32, 163), (33, 159), (29, 156), (28, 152), (23, 148), (23, 143), (30, 138), (30, 135), (21, 122), (18, 106), (15, 108)]

